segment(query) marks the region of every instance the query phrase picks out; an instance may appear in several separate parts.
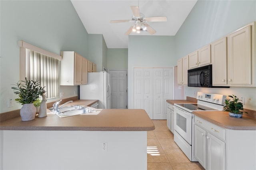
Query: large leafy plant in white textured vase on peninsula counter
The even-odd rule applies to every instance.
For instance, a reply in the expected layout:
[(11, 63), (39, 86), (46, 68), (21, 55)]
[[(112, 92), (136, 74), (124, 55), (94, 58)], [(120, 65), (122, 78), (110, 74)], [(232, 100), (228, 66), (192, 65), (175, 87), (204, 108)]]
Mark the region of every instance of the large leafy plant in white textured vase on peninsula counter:
[(15, 87), (11, 87), (14, 90), (14, 94), (18, 95), (15, 99), (18, 103), (22, 104), (20, 109), (20, 117), (22, 121), (31, 121), (35, 119), (36, 107), (34, 102), (42, 95), (45, 91), (45, 87), (41, 87), (41, 83), (36, 80), (18, 81)]

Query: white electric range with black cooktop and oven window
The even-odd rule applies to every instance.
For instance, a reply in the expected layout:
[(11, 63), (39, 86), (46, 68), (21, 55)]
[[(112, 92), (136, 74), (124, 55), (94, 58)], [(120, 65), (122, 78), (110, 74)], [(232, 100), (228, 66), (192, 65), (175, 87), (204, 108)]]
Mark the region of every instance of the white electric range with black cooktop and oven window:
[(174, 142), (180, 147), (190, 161), (194, 157), (194, 115), (193, 111), (223, 111), (225, 95), (198, 92), (197, 103), (174, 104)]

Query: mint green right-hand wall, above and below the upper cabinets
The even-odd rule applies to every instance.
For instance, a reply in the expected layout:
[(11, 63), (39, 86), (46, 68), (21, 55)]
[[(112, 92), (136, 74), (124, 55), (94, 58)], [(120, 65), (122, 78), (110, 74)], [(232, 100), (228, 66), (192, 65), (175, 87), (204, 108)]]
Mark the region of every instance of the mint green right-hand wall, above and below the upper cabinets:
[[(255, 0), (199, 0), (175, 36), (176, 55), (181, 58), (253, 21), (256, 21)], [(234, 94), (244, 97), (244, 108), (256, 109), (256, 87), (221, 89), (185, 86), (184, 90), (184, 98), (195, 97), (194, 92), (198, 91), (223, 95)]]

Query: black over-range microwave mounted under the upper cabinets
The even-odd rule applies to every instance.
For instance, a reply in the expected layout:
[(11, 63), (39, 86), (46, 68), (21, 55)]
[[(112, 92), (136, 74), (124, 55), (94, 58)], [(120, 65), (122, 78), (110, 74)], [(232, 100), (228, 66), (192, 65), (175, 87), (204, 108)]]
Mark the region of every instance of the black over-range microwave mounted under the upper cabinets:
[(212, 65), (205, 65), (188, 70), (188, 87), (221, 87), (228, 86), (212, 86)]

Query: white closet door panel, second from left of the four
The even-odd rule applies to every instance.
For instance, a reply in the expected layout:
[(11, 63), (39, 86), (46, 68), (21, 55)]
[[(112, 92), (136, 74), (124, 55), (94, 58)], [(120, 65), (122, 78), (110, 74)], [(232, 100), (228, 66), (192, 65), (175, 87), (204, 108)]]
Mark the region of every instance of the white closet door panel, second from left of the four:
[(144, 79), (144, 93), (143, 93), (143, 105), (142, 109), (148, 113), (150, 119), (153, 119), (153, 69), (144, 68), (143, 69), (143, 79)]

